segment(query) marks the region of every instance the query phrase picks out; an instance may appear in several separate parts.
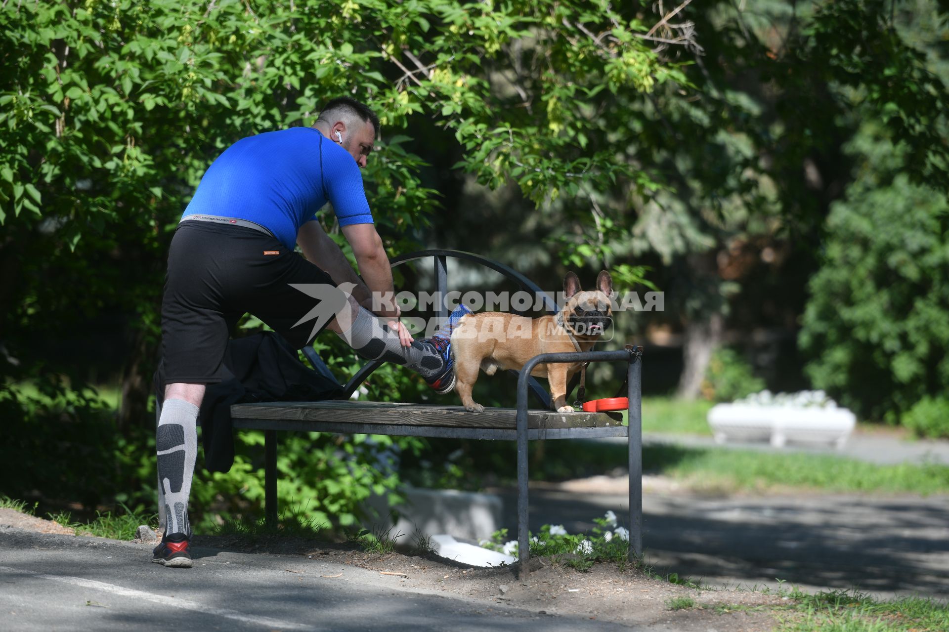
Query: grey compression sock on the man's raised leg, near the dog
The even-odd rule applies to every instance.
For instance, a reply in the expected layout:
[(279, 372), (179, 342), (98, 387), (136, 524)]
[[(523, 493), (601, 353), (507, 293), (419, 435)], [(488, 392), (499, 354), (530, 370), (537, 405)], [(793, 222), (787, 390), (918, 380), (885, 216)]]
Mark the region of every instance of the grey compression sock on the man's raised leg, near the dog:
[(340, 336), (366, 360), (401, 364), (423, 378), (431, 378), (444, 370), (444, 362), (432, 344), (416, 341), (411, 346), (402, 346), (399, 335), (363, 307), (349, 330)]

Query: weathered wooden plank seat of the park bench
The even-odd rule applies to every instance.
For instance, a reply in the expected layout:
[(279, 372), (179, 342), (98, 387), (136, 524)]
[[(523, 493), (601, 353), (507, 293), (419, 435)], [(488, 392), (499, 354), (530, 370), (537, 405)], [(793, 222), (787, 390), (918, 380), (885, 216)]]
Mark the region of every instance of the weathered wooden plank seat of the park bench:
[[(463, 406), (433, 406), (386, 401), (275, 401), (234, 404), (231, 417), (289, 421), (334, 421), (381, 425), (419, 425), (453, 428), (516, 428), (513, 408), (485, 408), (469, 413)], [(622, 425), (618, 413), (554, 413), (531, 410), (528, 427), (600, 428)]]

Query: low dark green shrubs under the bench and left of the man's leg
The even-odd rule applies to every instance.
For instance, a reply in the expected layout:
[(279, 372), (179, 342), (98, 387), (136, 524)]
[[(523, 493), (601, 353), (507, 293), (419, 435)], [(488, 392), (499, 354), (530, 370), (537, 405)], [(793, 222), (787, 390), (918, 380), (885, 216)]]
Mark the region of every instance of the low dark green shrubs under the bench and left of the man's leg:
[[(94, 517), (95, 511), (96, 524), (104, 530), (111, 529), (108, 516), (118, 520), (156, 510), (154, 427), (131, 428), (122, 435), (115, 411), (90, 389), (43, 381), (36, 386), (0, 384), (0, 419), (12, 446), (0, 459), (0, 506), (7, 502), (5, 496), (39, 500), (42, 511), (78, 503), (81, 508), (68, 520)], [(302, 521), (350, 527), (364, 517), (370, 494), (400, 502), (400, 452), (421, 445), (415, 437), (280, 435), (277, 468), (290, 475), (278, 481), (277, 495), (285, 511), (281, 522), (287, 525)], [(197, 458), (189, 505), (197, 532), (263, 514), (264, 433), (235, 433), (234, 450), (227, 473), (210, 473), (203, 456)], [(102, 514), (97, 510), (103, 505), (127, 507), (124, 513)]]

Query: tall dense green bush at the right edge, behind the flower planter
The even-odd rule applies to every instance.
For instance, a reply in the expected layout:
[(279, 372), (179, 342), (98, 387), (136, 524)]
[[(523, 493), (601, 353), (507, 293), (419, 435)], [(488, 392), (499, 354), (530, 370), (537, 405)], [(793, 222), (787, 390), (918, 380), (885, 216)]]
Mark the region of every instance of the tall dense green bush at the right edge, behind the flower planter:
[[(934, 435), (944, 432), (938, 396), (949, 385), (949, 26), (931, 2), (868, 6), (871, 16), (851, 20), (841, 39), (826, 25), (816, 36), (834, 50), (853, 46), (827, 69), (854, 105), (844, 146), (853, 181), (830, 207), (800, 344), (816, 386), (865, 418)], [(874, 24), (885, 29), (870, 38)], [(858, 87), (866, 72), (888, 79)]]

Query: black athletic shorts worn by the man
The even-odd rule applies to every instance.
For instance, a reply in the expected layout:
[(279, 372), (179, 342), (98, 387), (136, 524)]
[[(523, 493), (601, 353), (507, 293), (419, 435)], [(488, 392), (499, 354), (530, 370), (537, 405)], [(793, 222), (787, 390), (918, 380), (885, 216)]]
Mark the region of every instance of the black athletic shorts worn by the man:
[(296, 324), (319, 301), (290, 283), (336, 286), (325, 271), (263, 232), (200, 221), (178, 226), (161, 301), (165, 383), (221, 381), (231, 330), (246, 313), (294, 348), (309, 343), (318, 333), (314, 322)]

